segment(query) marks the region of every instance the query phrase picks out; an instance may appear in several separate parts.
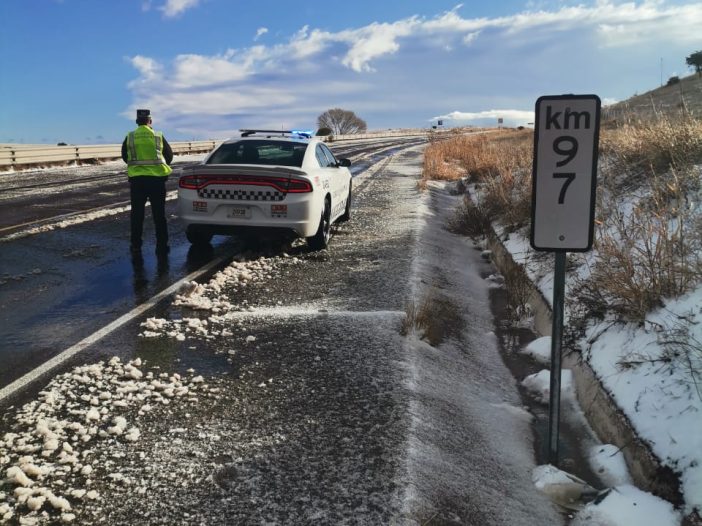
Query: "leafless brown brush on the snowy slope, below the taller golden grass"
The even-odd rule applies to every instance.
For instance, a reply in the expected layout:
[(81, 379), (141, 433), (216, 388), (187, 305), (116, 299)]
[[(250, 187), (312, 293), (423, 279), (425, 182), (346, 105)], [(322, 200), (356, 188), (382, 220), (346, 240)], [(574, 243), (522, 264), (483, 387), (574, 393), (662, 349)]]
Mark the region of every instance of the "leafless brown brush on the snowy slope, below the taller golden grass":
[(620, 195), (606, 194), (602, 208), (609, 214), (598, 230), (597, 263), (582, 286), (595, 311), (633, 321), (702, 278), (699, 211), (687, 206), (688, 196), (699, 191), (699, 176), (692, 169), (671, 170), (665, 177), (651, 175), (647, 184), (645, 198), (628, 213), (618, 206)]

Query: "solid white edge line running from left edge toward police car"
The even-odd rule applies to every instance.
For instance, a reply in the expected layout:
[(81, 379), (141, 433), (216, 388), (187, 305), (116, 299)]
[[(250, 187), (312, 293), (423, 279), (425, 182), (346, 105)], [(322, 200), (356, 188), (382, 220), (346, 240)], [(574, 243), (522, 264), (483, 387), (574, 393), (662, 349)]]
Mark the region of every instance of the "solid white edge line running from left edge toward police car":
[(47, 374), (50, 372), (52, 369), (58, 367), (62, 363), (64, 363), (66, 360), (71, 358), (72, 356), (75, 356), (82, 350), (90, 347), (93, 345), (95, 342), (101, 340), (111, 332), (115, 331), (116, 329), (120, 328), (122, 325), (125, 325), (126, 323), (132, 321), (134, 318), (137, 318), (138, 316), (141, 316), (144, 314), (146, 311), (149, 309), (155, 307), (161, 300), (166, 298), (167, 296), (170, 296), (174, 292), (176, 292), (184, 282), (186, 281), (193, 281), (203, 274), (209, 272), (213, 268), (215, 268), (217, 265), (220, 265), (224, 260), (227, 258), (227, 256), (222, 256), (220, 258), (215, 259), (214, 261), (211, 261), (204, 267), (188, 274), (184, 278), (180, 279), (179, 281), (175, 282), (173, 285), (168, 287), (167, 289), (162, 290), (160, 293), (158, 293), (156, 296), (152, 297), (149, 299), (146, 303), (142, 303), (138, 307), (132, 309), (130, 312), (124, 314), (123, 316), (120, 316), (117, 318), (115, 321), (110, 323), (109, 325), (106, 325), (99, 331), (91, 334), (87, 338), (79, 341), (72, 347), (69, 347), (65, 351), (61, 352), (57, 356), (54, 356), (50, 360), (44, 362), (42, 365), (39, 367), (33, 369), (32, 371), (28, 372), (21, 378), (15, 380), (11, 384), (3, 387), (0, 389), (0, 402), (5, 400), (7, 397), (12, 396), (14, 393), (22, 389), (23, 387), (27, 386), (28, 384), (36, 381), (39, 379), (41, 376)]

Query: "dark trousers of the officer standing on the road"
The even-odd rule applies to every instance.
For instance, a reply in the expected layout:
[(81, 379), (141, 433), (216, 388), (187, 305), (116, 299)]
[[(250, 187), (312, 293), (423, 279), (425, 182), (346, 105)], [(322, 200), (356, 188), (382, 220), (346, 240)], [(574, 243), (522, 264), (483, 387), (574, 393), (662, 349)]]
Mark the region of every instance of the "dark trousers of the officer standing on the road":
[(166, 224), (166, 176), (139, 175), (129, 178), (132, 213), (131, 226), (132, 248), (141, 247), (141, 235), (144, 229), (144, 209), (146, 201), (151, 203), (151, 216), (156, 227), (156, 248), (168, 246), (168, 227)]

